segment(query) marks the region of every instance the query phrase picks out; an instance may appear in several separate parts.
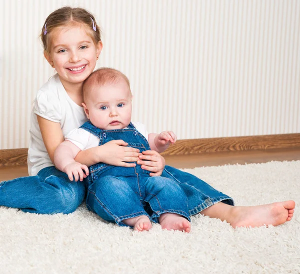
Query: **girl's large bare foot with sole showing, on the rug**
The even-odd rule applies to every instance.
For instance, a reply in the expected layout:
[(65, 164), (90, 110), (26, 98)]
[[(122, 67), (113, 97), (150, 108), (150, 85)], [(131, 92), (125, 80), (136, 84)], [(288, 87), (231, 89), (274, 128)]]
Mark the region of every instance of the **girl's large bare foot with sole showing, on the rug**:
[(279, 225), (291, 220), (294, 212), (293, 200), (273, 202), (256, 206), (233, 206), (232, 219), (229, 223), (235, 228), (240, 226), (255, 227), (262, 225)]

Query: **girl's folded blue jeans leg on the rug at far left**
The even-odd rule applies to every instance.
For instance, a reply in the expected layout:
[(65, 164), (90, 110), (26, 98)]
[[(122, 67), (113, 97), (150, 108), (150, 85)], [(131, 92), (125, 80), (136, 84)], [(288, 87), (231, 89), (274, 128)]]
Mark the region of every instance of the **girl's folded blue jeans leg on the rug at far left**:
[(41, 169), (35, 176), (0, 182), (0, 205), (24, 212), (67, 214), (80, 205), (84, 195), (83, 181), (70, 181), (54, 166)]

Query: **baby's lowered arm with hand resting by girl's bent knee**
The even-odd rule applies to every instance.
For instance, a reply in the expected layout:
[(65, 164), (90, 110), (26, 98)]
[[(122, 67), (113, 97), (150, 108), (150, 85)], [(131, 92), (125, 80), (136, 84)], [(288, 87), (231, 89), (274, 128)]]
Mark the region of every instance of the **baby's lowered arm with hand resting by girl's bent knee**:
[[(78, 179), (82, 181), (88, 175), (87, 166), (74, 160), (79, 151), (80, 149), (75, 144), (65, 140), (57, 146), (54, 152), (54, 164), (56, 168), (65, 172), (71, 181), (73, 180), (73, 176), (75, 181)], [(82, 170), (85, 171), (85, 174)]]

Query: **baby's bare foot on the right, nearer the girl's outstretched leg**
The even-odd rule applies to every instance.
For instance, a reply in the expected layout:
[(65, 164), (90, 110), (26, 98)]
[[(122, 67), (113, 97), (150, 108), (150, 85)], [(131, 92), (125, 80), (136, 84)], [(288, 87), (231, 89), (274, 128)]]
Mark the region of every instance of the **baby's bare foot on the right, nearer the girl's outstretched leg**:
[(187, 233), (190, 231), (190, 222), (186, 218), (175, 213), (163, 213), (159, 216), (158, 221), (162, 229), (174, 229)]

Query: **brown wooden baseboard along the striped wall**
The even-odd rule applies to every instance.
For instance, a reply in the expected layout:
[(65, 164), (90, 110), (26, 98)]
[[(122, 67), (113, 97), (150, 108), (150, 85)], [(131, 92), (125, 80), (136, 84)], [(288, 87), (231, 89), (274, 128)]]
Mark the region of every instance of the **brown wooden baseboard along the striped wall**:
[[(300, 133), (177, 140), (161, 155), (300, 147)], [(28, 148), (0, 150), (0, 166), (27, 163)]]

